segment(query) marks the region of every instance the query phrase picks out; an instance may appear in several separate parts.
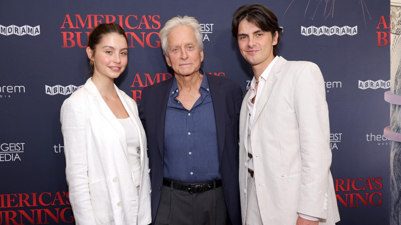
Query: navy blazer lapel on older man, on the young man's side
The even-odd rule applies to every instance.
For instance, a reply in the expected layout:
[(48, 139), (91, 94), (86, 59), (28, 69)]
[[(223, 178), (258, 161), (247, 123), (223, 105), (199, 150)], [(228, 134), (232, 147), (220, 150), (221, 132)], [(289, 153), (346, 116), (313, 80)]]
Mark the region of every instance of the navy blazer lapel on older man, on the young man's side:
[[(206, 74), (206, 73), (205, 73)], [(225, 90), (220, 86), (220, 80), (215, 76), (206, 74), (209, 81), (210, 94), (212, 96), (213, 111), (215, 112), (217, 147), (219, 149), (219, 159), (223, 157), (225, 141)]]

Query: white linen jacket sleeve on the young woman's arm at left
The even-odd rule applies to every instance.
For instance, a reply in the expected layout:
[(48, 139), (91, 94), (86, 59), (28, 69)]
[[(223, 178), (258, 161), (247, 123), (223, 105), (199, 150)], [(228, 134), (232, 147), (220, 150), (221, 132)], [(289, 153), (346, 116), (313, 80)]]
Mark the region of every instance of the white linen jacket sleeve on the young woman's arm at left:
[(86, 148), (86, 119), (80, 104), (67, 98), (61, 106), (61, 132), (64, 139), (65, 175), (69, 200), (77, 225), (96, 224), (89, 195)]

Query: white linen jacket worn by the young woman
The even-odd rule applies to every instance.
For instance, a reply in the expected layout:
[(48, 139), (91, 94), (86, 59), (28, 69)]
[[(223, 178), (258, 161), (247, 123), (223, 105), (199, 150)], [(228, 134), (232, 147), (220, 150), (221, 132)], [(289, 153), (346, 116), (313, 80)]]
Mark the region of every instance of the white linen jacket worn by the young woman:
[[(115, 86), (115, 85), (114, 85)], [(136, 190), (126, 133), (91, 78), (61, 106), (65, 174), (77, 225), (151, 223), (146, 136), (135, 101), (115, 86), (140, 140), (141, 183)]]

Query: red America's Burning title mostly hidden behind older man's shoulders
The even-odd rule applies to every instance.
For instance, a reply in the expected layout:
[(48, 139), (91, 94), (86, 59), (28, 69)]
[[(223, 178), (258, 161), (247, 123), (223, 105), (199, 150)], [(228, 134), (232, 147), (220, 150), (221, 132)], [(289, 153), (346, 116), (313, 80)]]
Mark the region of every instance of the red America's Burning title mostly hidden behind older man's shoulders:
[[(225, 76), (225, 72), (209, 72), (210, 75), (215, 75), (215, 76)], [(134, 74), (134, 80), (132, 82), (132, 85), (130, 86), (131, 88), (144, 88), (146, 86), (150, 86), (153, 84), (157, 84), (159, 82), (162, 82), (164, 80), (168, 80), (172, 77), (171, 73), (156, 73), (156, 74), (150, 74), (150, 73), (144, 73), (144, 74), (139, 74), (136, 73)], [(132, 92), (132, 98), (134, 98), (135, 102), (138, 103), (138, 99), (142, 99), (142, 90), (131, 90)]]

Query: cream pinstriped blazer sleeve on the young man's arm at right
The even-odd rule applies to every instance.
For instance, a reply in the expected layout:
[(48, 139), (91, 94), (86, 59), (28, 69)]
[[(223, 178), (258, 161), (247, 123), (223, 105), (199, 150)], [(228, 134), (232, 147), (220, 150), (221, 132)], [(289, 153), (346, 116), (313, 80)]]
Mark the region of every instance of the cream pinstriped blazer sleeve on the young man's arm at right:
[(302, 159), (297, 212), (326, 219), (324, 199), (332, 159), (330, 124), (323, 76), (314, 63), (309, 62), (298, 75), (294, 107)]

